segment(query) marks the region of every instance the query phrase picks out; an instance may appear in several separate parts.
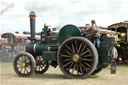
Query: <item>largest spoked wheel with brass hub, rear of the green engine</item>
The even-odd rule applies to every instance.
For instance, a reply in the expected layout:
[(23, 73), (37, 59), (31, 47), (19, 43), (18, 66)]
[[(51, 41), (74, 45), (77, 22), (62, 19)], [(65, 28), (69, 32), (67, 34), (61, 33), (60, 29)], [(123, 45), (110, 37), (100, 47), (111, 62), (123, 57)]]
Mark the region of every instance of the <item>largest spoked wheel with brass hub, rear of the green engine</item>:
[(57, 55), (61, 71), (69, 78), (87, 78), (97, 67), (98, 53), (87, 39), (74, 37), (67, 39)]

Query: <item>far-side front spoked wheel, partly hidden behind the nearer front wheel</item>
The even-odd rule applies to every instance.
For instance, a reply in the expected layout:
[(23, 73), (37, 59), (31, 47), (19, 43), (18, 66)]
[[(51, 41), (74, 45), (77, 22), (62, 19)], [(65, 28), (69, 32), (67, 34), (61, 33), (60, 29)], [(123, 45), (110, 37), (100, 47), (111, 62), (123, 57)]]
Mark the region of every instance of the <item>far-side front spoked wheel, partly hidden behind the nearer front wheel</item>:
[(36, 74), (43, 74), (45, 73), (49, 68), (48, 61), (44, 61), (43, 56), (37, 56), (36, 57)]

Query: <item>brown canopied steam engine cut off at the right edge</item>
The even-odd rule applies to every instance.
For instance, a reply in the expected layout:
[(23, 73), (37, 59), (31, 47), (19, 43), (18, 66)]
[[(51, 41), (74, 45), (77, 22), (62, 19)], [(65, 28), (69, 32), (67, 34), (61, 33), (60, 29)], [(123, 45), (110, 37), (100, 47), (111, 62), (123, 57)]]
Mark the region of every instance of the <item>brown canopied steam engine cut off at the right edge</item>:
[(119, 58), (126, 64), (128, 64), (128, 21), (115, 23), (108, 26), (109, 30), (120, 32), (120, 35), (116, 37), (117, 41), (117, 64), (119, 63)]

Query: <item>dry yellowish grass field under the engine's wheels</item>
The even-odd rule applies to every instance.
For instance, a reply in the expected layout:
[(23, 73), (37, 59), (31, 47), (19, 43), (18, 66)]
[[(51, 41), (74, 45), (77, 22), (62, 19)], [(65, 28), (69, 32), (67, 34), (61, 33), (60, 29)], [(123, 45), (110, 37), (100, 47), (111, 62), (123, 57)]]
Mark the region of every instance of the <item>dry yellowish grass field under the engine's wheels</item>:
[(128, 65), (118, 65), (116, 75), (110, 67), (87, 79), (67, 79), (59, 68), (50, 67), (43, 75), (18, 77), (12, 63), (0, 63), (0, 85), (128, 85)]

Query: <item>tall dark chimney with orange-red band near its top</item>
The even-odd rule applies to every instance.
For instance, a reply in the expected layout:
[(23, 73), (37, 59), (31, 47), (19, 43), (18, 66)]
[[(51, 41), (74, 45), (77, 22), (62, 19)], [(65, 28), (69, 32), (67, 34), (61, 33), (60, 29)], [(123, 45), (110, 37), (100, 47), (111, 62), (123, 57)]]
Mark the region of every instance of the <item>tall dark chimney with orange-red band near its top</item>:
[(29, 14), (30, 17), (30, 32), (31, 32), (31, 41), (35, 41), (35, 18), (36, 18), (36, 13), (34, 11), (31, 11)]

